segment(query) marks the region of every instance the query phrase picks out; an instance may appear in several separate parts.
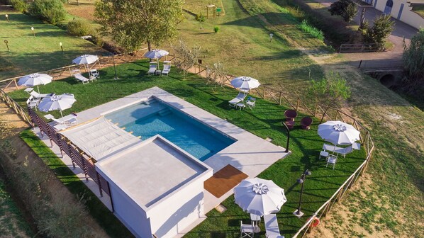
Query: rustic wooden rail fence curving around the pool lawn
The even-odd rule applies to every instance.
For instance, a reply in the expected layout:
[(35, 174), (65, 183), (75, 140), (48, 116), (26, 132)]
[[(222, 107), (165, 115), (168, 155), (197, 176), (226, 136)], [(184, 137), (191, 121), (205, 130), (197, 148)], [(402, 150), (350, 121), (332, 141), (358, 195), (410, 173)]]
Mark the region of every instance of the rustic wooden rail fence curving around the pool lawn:
[[(143, 56), (147, 52), (147, 49), (137, 50), (134, 52), (127, 52), (120, 55), (110, 55), (110, 56), (102, 56), (99, 57), (99, 61), (96, 64), (91, 65), (90, 68), (96, 66), (98, 69), (101, 69), (103, 67), (110, 67), (113, 64), (125, 64), (129, 62), (135, 62), (138, 60), (142, 60)], [(181, 57), (178, 57), (176, 55), (169, 55), (167, 60), (177, 62), (184, 60)], [(72, 76), (72, 71), (74, 69), (81, 70), (84, 66), (79, 65), (69, 65), (57, 69), (50, 69), (45, 72), (39, 72), (39, 73), (46, 73), (50, 74), (53, 79), (59, 80), (59, 79), (65, 79), (67, 77)], [(86, 71), (88, 72), (90, 68), (84, 67)], [(189, 72), (192, 72), (194, 74), (200, 75), (203, 79), (205, 79), (205, 83), (208, 83), (211, 77), (211, 70), (208, 66), (204, 66), (203, 64), (193, 64), (192, 67), (189, 69), (186, 69)], [(21, 76), (23, 77), (23, 76)], [(224, 86), (230, 86), (230, 81), (234, 79), (235, 77), (230, 74), (225, 74), (220, 76), (221, 79), (218, 79), (219, 84)], [(26, 114), (26, 111), (23, 110), (21, 106), (16, 103), (16, 101), (13, 101), (12, 98), (10, 98), (9, 95), (6, 93), (6, 89), (9, 89), (9, 86), (13, 84), (13, 86), (18, 89), (18, 85), (16, 82), (16, 79), (20, 77), (14, 77), (11, 79), (5, 79), (1, 82), (6, 82), (7, 85), (5, 87), (5, 90), (0, 89), (1, 98), (3, 101), (5, 101), (10, 107), (14, 109), (16, 113), (21, 115), (23, 120), (25, 120), (28, 124), (31, 124), (31, 120), (28, 117), (28, 114)], [(215, 79), (216, 81), (216, 79)], [(10, 89), (14, 90), (14, 89)], [(333, 205), (337, 202), (340, 202), (342, 200), (343, 196), (345, 196), (345, 193), (355, 184), (359, 176), (362, 176), (364, 171), (367, 169), (367, 166), (369, 164), (369, 161), (372, 156), (372, 152), (374, 151), (374, 142), (372, 140), (372, 137), (367, 130), (367, 128), (364, 128), (364, 126), (355, 118), (353, 118), (351, 115), (348, 115), (347, 113), (337, 109), (337, 108), (329, 108), (325, 110), (322, 106), (315, 104), (315, 105), (307, 105), (304, 103), (304, 101), (301, 99), (300, 96), (294, 96), (292, 94), (286, 94), (283, 91), (279, 91), (277, 89), (274, 89), (269, 86), (263, 86), (261, 85), (254, 91), (251, 91), (250, 94), (253, 94), (255, 96), (259, 96), (260, 98), (266, 99), (268, 101), (272, 101), (274, 103), (277, 103), (278, 105), (286, 105), (290, 108), (293, 108), (296, 111), (299, 111), (301, 113), (304, 113), (306, 115), (313, 115), (315, 118), (323, 118), (323, 120), (342, 120), (345, 123), (350, 123), (353, 125), (357, 130), (360, 132), (360, 140), (361, 144), (363, 145), (365, 151), (367, 152), (367, 157), (364, 160), (364, 162), (358, 167), (358, 169), (345, 181), (345, 183), (340, 186), (340, 188), (335, 191), (333, 196), (330, 197), (316, 212), (313, 213), (310, 219), (299, 229), (298, 232), (294, 235), (294, 237), (298, 237), (301, 235), (301, 237), (304, 237), (308, 232), (313, 229), (313, 220), (318, 217), (325, 217), (325, 215), (330, 211), (330, 209), (333, 207)]]

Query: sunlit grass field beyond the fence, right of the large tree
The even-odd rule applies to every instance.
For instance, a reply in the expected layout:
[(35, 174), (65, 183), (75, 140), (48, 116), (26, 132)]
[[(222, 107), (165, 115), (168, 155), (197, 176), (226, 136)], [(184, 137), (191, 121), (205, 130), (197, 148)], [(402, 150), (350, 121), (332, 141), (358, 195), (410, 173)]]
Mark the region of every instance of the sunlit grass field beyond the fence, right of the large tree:
[[(256, 14), (250, 15), (242, 6), (248, 1), (223, 0), (225, 16), (209, 18), (202, 23), (194, 16), (186, 14), (186, 21), (180, 25), (180, 35), (189, 45), (201, 47), (204, 65), (223, 62), (225, 71), (235, 76), (249, 76), (260, 80), (264, 85), (286, 91), (286, 93), (301, 94), (304, 87), (312, 79), (323, 77), (322, 69), (303, 55), (286, 38), (280, 38), (276, 31), (264, 28), (264, 22)], [(262, 1), (257, 1), (262, 4)], [(184, 8), (194, 8), (195, 0), (187, 0)], [(276, 4), (270, 4), (277, 6)], [(268, 6), (268, 4), (267, 4)], [(279, 10), (277, 10), (279, 11)], [(309, 38), (296, 28), (295, 21), (289, 14), (269, 13), (264, 16), (289, 21), (284, 26), (291, 28), (292, 36), (299, 35), (308, 47), (319, 48), (323, 42)], [(213, 27), (218, 26), (218, 33), (213, 33)], [(284, 26), (279, 26), (284, 28)], [(269, 33), (274, 33), (274, 39), (269, 42)], [(305, 43), (306, 44), (306, 43)], [(286, 87), (287, 84), (291, 88)]]

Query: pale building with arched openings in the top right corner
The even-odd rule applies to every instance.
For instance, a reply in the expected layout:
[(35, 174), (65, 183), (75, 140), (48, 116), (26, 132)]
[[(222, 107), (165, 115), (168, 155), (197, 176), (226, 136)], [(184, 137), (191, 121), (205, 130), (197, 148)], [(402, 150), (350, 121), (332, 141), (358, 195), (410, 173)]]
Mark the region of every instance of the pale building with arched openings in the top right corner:
[(424, 18), (412, 11), (412, 5), (424, 6), (424, 0), (362, 0), (371, 4), (379, 11), (391, 15), (399, 21), (413, 26), (414, 28), (424, 28)]

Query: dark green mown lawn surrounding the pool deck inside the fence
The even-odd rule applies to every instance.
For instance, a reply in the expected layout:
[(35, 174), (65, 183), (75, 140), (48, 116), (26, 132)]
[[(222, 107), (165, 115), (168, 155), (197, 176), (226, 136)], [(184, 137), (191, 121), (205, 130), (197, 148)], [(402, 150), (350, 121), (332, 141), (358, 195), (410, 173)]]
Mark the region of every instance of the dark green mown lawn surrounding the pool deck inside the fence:
[[(83, 85), (75, 79), (65, 79), (42, 86), (40, 90), (56, 94), (65, 92), (74, 94), (77, 102), (71, 109), (64, 111), (65, 114), (69, 114), (71, 111), (84, 111), (116, 98), (149, 89), (152, 86), (159, 86), (220, 118), (225, 118), (240, 128), (262, 138), (270, 137), (274, 144), (285, 147), (286, 132), (281, 121), (286, 107), (258, 99), (255, 110), (236, 111), (228, 107), (228, 101), (237, 94), (234, 89), (206, 85), (202, 79), (194, 75), (189, 75), (189, 79), (182, 79), (182, 74), (178, 74), (176, 70), (173, 70), (169, 77), (145, 76), (147, 64), (142, 61), (120, 65), (118, 76), (121, 80), (118, 81), (113, 80), (113, 68), (107, 68), (101, 71), (101, 79), (94, 83)], [(13, 91), (10, 95), (19, 103), (25, 103), (28, 98), (28, 94), (23, 91)], [(57, 112), (52, 114), (58, 116)], [(291, 237), (308, 216), (333, 195), (359, 164), (364, 162), (365, 157), (363, 150), (356, 151), (346, 158), (340, 158), (335, 170), (325, 168), (324, 160), (318, 161), (323, 140), (316, 133), (317, 119), (311, 130), (301, 130), (299, 120), (302, 116), (299, 115), (296, 118), (296, 127), (290, 132), (292, 154), (260, 174), (261, 178), (272, 179), (286, 191), (288, 201), (277, 215), (281, 233), (286, 237)], [(306, 216), (298, 219), (291, 212), (296, 209), (299, 199), (300, 186), (296, 183), (296, 179), (305, 169), (311, 169), (313, 174), (306, 181), (303, 193), (302, 210), (306, 212)], [(216, 210), (208, 212), (209, 218), (186, 237), (237, 236), (240, 220), (247, 220), (248, 216), (233, 203), (233, 197), (225, 200), (223, 205), (228, 208), (227, 211), (222, 214)], [(264, 237), (264, 232), (261, 233), (261, 237)]]

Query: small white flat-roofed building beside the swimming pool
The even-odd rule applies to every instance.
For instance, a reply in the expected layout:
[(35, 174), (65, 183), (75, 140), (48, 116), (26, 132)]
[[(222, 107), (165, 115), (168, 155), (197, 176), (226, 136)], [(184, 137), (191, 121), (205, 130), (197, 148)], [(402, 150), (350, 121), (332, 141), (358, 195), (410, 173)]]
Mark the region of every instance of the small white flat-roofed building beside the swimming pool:
[(115, 215), (136, 237), (175, 237), (203, 212), (212, 169), (160, 135), (101, 159)]

